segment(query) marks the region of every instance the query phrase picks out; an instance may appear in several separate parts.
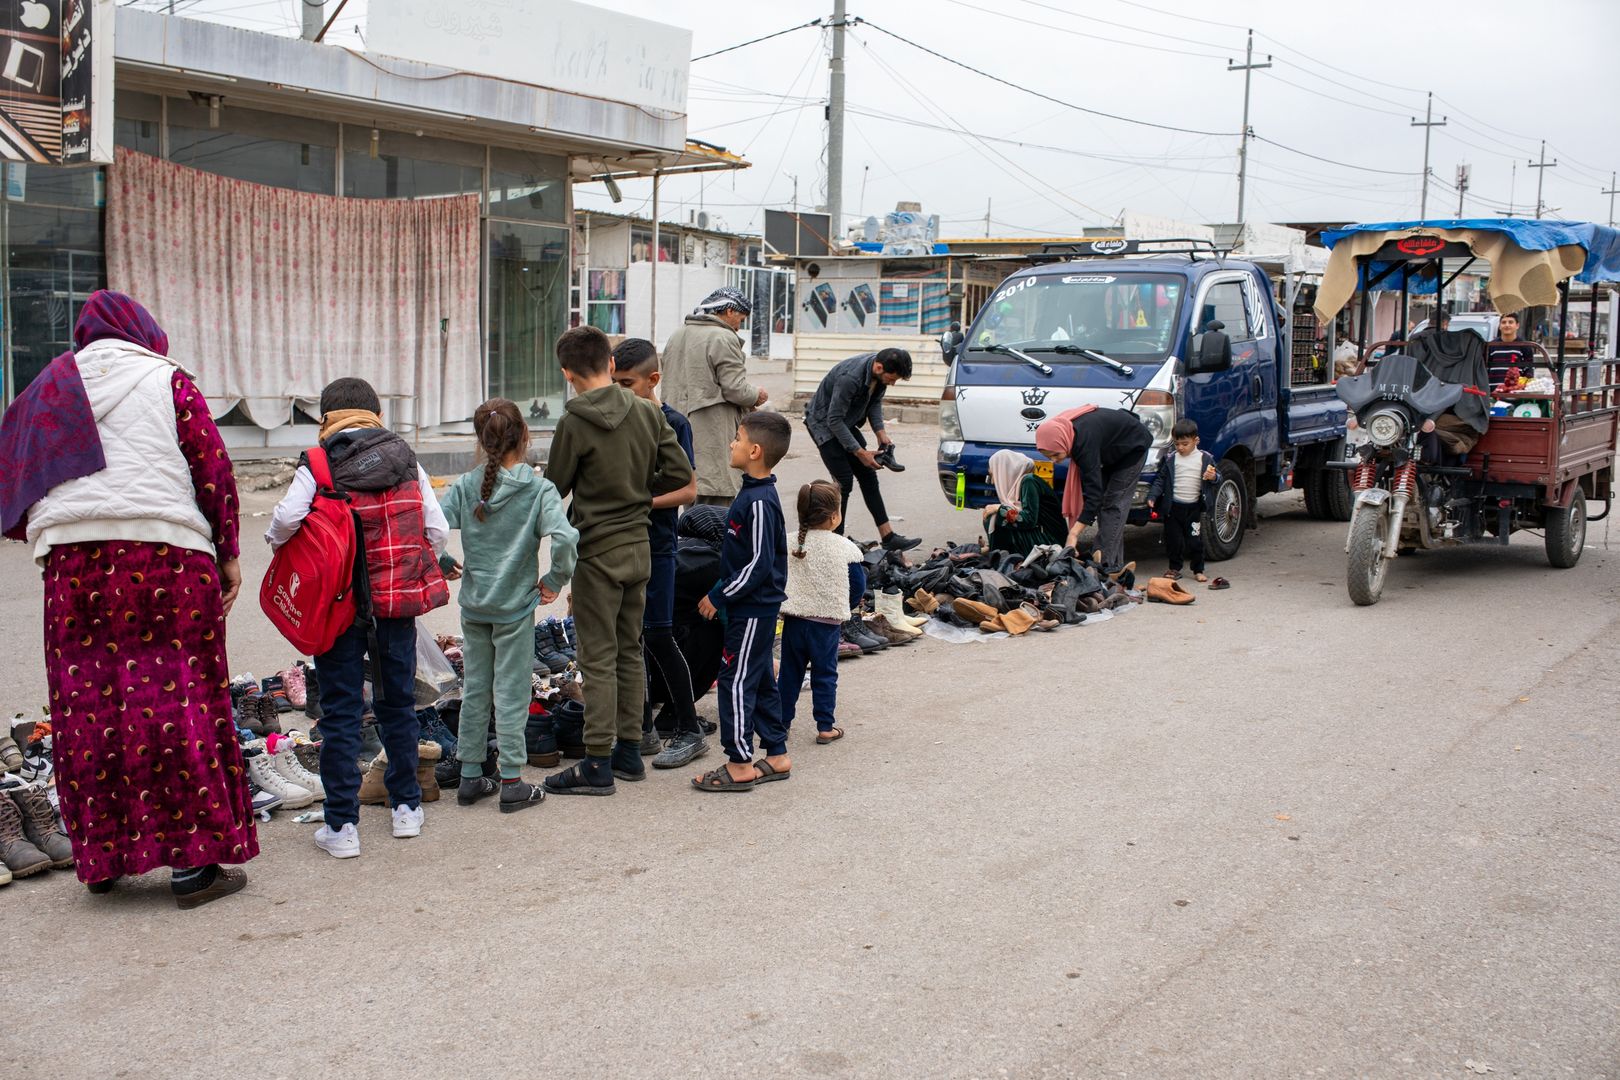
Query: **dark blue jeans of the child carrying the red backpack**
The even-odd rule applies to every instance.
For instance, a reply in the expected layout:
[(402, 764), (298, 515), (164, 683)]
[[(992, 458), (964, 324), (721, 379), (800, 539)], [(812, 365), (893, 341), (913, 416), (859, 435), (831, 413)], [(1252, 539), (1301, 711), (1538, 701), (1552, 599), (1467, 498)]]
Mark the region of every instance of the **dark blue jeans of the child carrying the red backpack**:
[[(381, 685), (371, 688), (382, 748), (389, 755), (382, 782), (390, 806), (420, 806), (416, 784), (416, 620), (379, 619), (376, 657)], [(326, 787), (326, 824), (334, 832), (360, 824), (360, 716), (369, 677), (366, 631), (350, 627), (330, 651), (314, 657), (321, 682), (321, 785)]]

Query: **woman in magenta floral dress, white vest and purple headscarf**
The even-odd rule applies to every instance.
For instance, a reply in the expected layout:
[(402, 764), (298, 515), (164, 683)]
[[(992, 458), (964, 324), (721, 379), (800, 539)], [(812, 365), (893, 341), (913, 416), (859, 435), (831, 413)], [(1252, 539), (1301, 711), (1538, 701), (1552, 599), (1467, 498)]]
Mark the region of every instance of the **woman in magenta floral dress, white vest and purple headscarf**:
[(241, 588), (237, 483), (168, 338), (97, 291), (0, 426), (0, 526), (45, 578), (45, 674), (79, 881), (172, 868), (181, 908), (258, 855), (230, 712), (225, 615)]

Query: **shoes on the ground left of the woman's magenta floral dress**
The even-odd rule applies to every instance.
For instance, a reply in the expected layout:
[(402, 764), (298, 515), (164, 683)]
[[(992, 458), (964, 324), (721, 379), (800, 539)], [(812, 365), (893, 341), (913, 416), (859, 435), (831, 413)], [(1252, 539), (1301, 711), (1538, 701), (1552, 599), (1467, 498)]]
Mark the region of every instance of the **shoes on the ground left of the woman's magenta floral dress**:
[(73, 868), (52, 785), (50, 724), (16, 717), (0, 733), (0, 886)]

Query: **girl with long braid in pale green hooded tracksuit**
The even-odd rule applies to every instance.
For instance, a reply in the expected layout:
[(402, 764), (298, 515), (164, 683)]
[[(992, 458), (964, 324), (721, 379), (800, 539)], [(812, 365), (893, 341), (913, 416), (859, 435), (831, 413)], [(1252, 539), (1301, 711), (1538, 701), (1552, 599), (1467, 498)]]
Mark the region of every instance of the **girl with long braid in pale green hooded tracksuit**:
[[(462, 529), (465, 568), (444, 555), (447, 578), (462, 581), (463, 687), (455, 801), (471, 806), (501, 793), (501, 813), (539, 805), (544, 789), (523, 780), (525, 727), (535, 661), (535, 607), (557, 599), (573, 573), (580, 534), (562, 513), (562, 495), (525, 463), (528, 426), (517, 405), (491, 398), (473, 413), (483, 468), (446, 492), (444, 517)], [(539, 542), (551, 538), (551, 570), (539, 578)], [(538, 580), (536, 580), (538, 578)], [(489, 709), (496, 714), (501, 784), (483, 774)]]

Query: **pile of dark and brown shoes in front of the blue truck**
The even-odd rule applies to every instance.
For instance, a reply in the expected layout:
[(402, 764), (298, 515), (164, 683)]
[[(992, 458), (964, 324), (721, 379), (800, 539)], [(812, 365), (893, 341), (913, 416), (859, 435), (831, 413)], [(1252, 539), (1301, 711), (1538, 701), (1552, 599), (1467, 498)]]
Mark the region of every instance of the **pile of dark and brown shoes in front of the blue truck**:
[[(1074, 627), (1090, 614), (1142, 602), (1132, 591), (1134, 563), (1105, 573), (1100, 552), (1056, 544), (1029, 555), (953, 544), (935, 549), (920, 565), (875, 547), (867, 552), (867, 583), (878, 617), (889, 625), (910, 607), (957, 627), (1014, 636)], [(846, 641), (860, 630), (846, 623)]]

